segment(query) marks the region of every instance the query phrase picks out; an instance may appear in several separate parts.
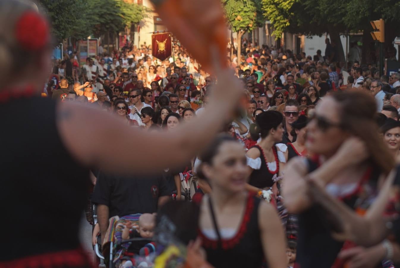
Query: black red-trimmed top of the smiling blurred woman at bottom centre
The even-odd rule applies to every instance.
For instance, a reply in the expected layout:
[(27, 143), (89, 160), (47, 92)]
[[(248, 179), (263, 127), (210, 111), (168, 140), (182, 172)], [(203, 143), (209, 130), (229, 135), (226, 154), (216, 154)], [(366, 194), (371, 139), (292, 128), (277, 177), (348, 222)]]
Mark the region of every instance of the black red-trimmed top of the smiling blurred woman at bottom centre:
[(260, 228), (258, 226), (258, 206), (260, 198), (248, 193), (246, 211), (235, 236), (230, 239), (210, 240), (199, 230), (207, 261), (214, 267), (261, 267), (264, 260)]

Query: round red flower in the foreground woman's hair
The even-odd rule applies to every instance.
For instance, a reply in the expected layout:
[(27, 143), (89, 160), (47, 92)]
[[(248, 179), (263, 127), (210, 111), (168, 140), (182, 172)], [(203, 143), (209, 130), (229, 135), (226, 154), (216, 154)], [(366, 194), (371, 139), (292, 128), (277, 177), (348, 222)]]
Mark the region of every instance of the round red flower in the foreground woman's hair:
[(40, 50), (50, 39), (48, 22), (37, 12), (27, 11), (15, 24), (15, 37), (24, 50)]

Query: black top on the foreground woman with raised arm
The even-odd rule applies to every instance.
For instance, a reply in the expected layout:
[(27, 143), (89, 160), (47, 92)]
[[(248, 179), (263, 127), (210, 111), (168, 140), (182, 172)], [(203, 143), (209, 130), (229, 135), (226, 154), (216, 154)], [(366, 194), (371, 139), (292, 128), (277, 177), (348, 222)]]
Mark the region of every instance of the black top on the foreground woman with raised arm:
[[(67, 152), (56, 103), (30, 97), (0, 103), (0, 261), (76, 249), (89, 171)], [(28, 264), (26, 264), (28, 265)]]

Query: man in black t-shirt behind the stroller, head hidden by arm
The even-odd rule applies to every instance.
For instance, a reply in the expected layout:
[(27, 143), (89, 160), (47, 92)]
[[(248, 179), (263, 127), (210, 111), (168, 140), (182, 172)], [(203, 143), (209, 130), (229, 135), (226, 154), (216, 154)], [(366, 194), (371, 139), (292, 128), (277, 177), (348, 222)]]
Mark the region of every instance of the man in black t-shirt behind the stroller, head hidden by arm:
[(136, 213), (154, 213), (171, 196), (171, 189), (161, 176), (117, 176), (100, 173), (92, 196), (102, 237), (108, 219)]

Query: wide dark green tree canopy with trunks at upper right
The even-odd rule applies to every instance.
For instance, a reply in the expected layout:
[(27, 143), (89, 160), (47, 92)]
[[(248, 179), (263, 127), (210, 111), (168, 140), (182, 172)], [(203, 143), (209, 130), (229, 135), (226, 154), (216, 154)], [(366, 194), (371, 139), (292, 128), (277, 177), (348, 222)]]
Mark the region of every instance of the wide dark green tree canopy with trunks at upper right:
[[(398, 0), (262, 0), (262, 10), (272, 22), (276, 38), (286, 31), (308, 36), (328, 33), (337, 44), (341, 61), (345, 57), (340, 33), (362, 31), (365, 48), (372, 41), (370, 20), (384, 18), (387, 24), (400, 23)], [(399, 32), (397, 27), (386, 27), (386, 46), (391, 46)], [(367, 50), (363, 49), (364, 55)]]

